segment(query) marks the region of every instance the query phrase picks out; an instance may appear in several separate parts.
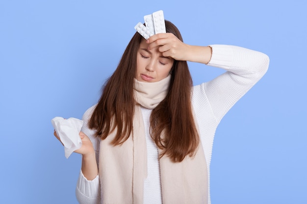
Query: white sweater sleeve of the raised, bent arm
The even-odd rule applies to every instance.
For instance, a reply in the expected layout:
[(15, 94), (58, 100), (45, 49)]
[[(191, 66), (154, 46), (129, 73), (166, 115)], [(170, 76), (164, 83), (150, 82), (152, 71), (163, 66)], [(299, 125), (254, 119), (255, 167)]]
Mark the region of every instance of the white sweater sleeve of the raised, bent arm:
[(209, 66), (223, 68), (225, 73), (204, 83), (217, 122), (266, 73), (269, 57), (261, 52), (232, 45), (210, 45)]

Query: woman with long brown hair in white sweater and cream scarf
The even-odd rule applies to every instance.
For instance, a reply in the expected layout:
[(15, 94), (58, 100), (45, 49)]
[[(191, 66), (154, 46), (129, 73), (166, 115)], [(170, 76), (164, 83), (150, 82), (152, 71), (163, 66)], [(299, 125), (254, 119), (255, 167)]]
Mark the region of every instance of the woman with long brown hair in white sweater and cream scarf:
[[(83, 115), (79, 203), (210, 203), (217, 125), (269, 58), (237, 46), (187, 45), (165, 24), (167, 33), (147, 41), (135, 33), (98, 104)], [(192, 87), (186, 61), (227, 71)]]

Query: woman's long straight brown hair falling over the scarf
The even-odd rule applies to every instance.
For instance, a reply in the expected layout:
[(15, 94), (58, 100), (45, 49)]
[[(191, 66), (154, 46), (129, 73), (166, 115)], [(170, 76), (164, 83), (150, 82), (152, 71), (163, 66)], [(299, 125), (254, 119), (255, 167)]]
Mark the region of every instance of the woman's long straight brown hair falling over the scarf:
[[(165, 21), (166, 32), (173, 33), (182, 41), (178, 28)], [(105, 139), (117, 129), (112, 144), (125, 142), (133, 129), (134, 94), (133, 82), (136, 73), (136, 56), (142, 36), (135, 33), (130, 40), (114, 73), (106, 81), (102, 96), (92, 114), (89, 127), (96, 136)], [(195, 127), (191, 107), (192, 77), (186, 61), (174, 61), (171, 69), (170, 90), (150, 117), (151, 136), (155, 144), (163, 149), (163, 155), (174, 162), (185, 156), (193, 156), (200, 138)], [(164, 132), (164, 138), (161, 133)]]

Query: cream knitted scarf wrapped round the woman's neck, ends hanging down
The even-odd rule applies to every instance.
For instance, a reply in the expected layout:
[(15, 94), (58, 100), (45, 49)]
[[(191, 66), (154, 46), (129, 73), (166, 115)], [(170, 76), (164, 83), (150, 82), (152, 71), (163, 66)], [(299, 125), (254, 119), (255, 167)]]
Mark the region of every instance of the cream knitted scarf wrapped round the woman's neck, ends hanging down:
[[(143, 204), (147, 149), (140, 105), (154, 109), (167, 95), (170, 79), (171, 75), (153, 83), (135, 79), (137, 103), (134, 107), (133, 132), (121, 145), (110, 144), (116, 131), (101, 140), (99, 174), (102, 204)], [(194, 120), (196, 122), (195, 117)], [(196, 127), (199, 132), (197, 122)], [(201, 143), (194, 157), (186, 156), (181, 162), (173, 162), (164, 155), (160, 159), (160, 172), (163, 204), (207, 204), (207, 166)]]

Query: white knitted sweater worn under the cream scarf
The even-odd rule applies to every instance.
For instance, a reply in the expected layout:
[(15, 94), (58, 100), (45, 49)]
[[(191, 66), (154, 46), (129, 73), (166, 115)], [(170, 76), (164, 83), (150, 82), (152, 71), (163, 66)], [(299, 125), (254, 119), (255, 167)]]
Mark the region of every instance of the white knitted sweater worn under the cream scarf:
[[(210, 45), (212, 47), (209, 66), (223, 68), (225, 73), (215, 79), (193, 87), (192, 104), (196, 113), (210, 178), (210, 161), (215, 130), (230, 108), (265, 74), (269, 65), (267, 55), (254, 50), (232, 45)], [(99, 139), (95, 131), (88, 128), (88, 121), (95, 106), (83, 115), (82, 132), (93, 142), (98, 162)], [(144, 183), (144, 204), (161, 204), (161, 184), (157, 149), (149, 136), (149, 118), (151, 110), (142, 108), (146, 129), (148, 152), (148, 178)], [(209, 183), (208, 183), (209, 184)], [(210, 188), (208, 188), (210, 191)], [(99, 175), (88, 181), (80, 172), (76, 187), (76, 196), (80, 204), (100, 204)], [(210, 204), (210, 192), (208, 192)]]

